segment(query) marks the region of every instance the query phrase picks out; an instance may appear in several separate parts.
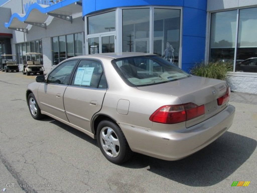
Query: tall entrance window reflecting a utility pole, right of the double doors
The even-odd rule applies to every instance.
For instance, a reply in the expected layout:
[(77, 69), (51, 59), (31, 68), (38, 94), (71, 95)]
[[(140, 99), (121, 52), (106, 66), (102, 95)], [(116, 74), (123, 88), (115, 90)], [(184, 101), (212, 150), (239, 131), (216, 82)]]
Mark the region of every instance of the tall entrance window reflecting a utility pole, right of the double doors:
[(150, 9), (122, 10), (123, 52), (149, 53)]

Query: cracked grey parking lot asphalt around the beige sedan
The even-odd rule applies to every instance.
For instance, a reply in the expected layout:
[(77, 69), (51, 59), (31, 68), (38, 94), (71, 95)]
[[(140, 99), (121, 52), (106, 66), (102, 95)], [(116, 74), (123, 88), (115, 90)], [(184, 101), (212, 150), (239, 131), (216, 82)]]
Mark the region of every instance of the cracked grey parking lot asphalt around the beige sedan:
[(257, 95), (232, 92), (232, 126), (185, 159), (135, 154), (115, 165), (86, 134), (30, 116), (25, 91), (34, 79), (0, 72), (0, 192), (256, 192)]

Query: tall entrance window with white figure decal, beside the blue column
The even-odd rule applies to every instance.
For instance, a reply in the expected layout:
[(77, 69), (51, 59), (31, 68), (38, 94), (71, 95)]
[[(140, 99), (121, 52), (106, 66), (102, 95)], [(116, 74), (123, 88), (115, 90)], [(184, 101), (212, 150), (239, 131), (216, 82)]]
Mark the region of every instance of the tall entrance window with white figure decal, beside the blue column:
[(178, 66), (180, 10), (154, 8), (153, 53)]

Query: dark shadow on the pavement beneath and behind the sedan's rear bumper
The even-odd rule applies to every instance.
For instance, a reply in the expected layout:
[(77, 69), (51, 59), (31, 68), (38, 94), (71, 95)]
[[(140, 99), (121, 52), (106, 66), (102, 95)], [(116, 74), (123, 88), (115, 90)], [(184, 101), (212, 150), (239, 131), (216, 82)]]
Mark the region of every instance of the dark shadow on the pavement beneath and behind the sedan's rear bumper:
[(254, 152), (254, 139), (226, 132), (204, 149), (178, 161), (164, 161), (135, 154), (123, 166), (144, 168), (187, 186), (212, 186), (235, 172)]

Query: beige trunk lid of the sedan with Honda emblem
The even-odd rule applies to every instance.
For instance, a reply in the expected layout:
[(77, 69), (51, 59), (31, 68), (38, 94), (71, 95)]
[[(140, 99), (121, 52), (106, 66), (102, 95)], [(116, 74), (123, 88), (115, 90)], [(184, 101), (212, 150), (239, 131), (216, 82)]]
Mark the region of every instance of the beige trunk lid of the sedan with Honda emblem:
[(227, 106), (227, 103), (218, 105), (217, 99), (226, 94), (227, 88), (225, 81), (197, 76), (163, 84), (138, 87), (143, 91), (177, 96), (182, 104), (204, 105), (205, 114), (187, 120), (186, 127), (196, 125), (222, 111)]

